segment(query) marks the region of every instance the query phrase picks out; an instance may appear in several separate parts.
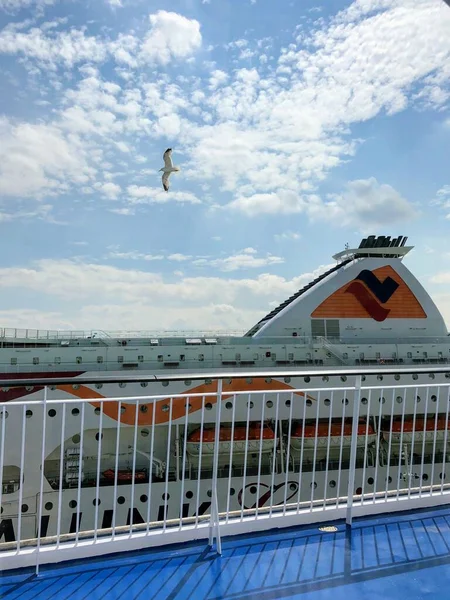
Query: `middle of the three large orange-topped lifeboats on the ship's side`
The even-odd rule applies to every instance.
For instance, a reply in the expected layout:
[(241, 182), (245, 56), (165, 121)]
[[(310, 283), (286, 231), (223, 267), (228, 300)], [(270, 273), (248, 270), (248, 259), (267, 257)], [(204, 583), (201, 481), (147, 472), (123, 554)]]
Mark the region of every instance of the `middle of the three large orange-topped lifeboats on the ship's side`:
[[(338, 447), (349, 447), (352, 443), (352, 428), (353, 424), (351, 419), (344, 421), (332, 421), (331, 425), (328, 422), (319, 422), (318, 424), (312, 423), (305, 425), (299, 423), (291, 432), (291, 446), (296, 450), (304, 448), (314, 448), (315, 445), (321, 448), (328, 447), (328, 439), (330, 440), (330, 448)], [(317, 439), (317, 442), (316, 442)], [(357, 446), (365, 446), (371, 444), (376, 440), (376, 433), (369, 423), (367, 426), (366, 421), (360, 419), (358, 424), (358, 437)]]

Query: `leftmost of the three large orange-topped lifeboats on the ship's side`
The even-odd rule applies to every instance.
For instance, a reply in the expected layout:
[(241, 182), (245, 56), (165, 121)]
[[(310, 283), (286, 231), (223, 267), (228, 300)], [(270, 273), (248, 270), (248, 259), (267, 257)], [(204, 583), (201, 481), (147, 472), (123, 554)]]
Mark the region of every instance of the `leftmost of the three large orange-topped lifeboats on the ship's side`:
[[(195, 429), (186, 440), (186, 450), (193, 456), (200, 454), (213, 454), (215, 443), (215, 430), (204, 429), (200, 437), (201, 430)], [(247, 447), (247, 452), (271, 452), (273, 451), (275, 433), (264, 425), (261, 431), (260, 423), (250, 423), (247, 435), (247, 425), (236, 425), (233, 431), (233, 440), (231, 439), (231, 426), (221, 427), (219, 434), (219, 454), (230, 454), (231, 444), (233, 444), (233, 455), (243, 454)], [(262, 437), (262, 440), (261, 440)]]

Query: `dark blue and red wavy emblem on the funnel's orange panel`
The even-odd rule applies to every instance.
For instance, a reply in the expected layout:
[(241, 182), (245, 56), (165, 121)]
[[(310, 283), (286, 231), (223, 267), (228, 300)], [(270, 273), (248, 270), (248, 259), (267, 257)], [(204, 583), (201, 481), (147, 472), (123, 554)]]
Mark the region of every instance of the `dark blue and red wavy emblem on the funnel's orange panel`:
[(390, 310), (383, 307), (382, 304), (386, 304), (391, 299), (398, 286), (399, 284), (392, 277), (388, 276), (384, 281), (380, 281), (372, 271), (365, 269), (348, 286), (346, 293), (353, 294), (372, 319), (381, 322), (390, 313)]

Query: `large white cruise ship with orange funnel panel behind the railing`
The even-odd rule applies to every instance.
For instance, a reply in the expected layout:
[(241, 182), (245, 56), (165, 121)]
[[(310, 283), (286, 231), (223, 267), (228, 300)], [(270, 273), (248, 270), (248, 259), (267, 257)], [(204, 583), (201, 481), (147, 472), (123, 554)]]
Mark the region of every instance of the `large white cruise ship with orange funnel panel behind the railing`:
[[(448, 374), (414, 369), (448, 364), (450, 338), (404, 264), (406, 241), (368, 236), (346, 247), (241, 336), (0, 330), (0, 402), (26, 401), (4, 404), (0, 415), (0, 543), (34, 538), (40, 504), (43, 536), (94, 529), (97, 520), (107, 529), (206, 514), (216, 446), (219, 512), (345, 496), (356, 431), (345, 372), (355, 368), (374, 388), (361, 398), (355, 493), (394, 490), (408, 477), (441, 484), (448, 398), (438, 387), (421, 398), (414, 384), (449, 383)], [(380, 365), (393, 367), (384, 380), (371, 374)], [(110, 382), (95, 382), (105, 375)], [(219, 375), (218, 429), (208, 394)], [(69, 383), (52, 383), (62, 377)], [(8, 387), (20, 379), (23, 387)], [(47, 401), (70, 403), (49, 404), (44, 415), (36, 401), (46, 385)], [(403, 387), (384, 394), (383, 385)]]

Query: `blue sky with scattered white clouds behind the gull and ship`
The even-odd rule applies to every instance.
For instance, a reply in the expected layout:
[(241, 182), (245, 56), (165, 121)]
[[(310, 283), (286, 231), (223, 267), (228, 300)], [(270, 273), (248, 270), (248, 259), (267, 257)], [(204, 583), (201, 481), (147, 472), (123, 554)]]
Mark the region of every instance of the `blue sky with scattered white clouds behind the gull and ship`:
[(367, 234), (450, 326), (449, 32), (443, 0), (0, 0), (0, 327), (243, 332)]

